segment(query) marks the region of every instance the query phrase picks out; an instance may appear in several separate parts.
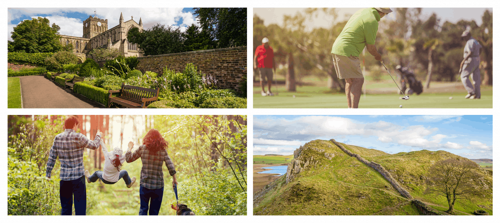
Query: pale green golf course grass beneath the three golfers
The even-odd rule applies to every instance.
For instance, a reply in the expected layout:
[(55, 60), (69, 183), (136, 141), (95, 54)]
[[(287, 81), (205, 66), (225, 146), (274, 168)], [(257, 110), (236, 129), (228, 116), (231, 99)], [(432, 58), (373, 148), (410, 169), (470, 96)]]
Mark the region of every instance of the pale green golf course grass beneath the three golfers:
[[(397, 89), (396, 89), (397, 90)], [(260, 88), (254, 87), (253, 108), (347, 108), (345, 94), (331, 92), (327, 87), (303, 86), (296, 92), (286, 92), (278, 88), (278, 94), (260, 96)], [(393, 91), (395, 92), (395, 90)], [(402, 95), (366, 94), (361, 95), (359, 108), (492, 108), (493, 90), (484, 87), (481, 99), (465, 99), (465, 91), (433, 92), (410, 95), (409, 100), (399, 99)], [(452, 99), (449, 99), (452, 97)]]

